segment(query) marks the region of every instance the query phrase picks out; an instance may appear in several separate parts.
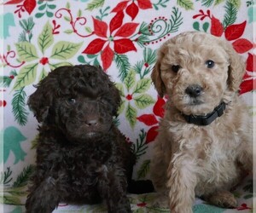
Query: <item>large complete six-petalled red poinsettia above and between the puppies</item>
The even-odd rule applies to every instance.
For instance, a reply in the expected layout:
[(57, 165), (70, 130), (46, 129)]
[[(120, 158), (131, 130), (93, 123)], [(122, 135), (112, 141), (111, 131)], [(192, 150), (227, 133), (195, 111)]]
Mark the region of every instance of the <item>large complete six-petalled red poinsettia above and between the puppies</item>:
[[(94, 33), (98, 38), (91, 41), (83, 53), (94, 55), (102, 51), (101, 57), (104, 70), (111, 66), (115, 53), (125, 54), (129, 51), (137, 51), (129, 37), (136, 31), (139, 24), (129, 22), (123, 25), (124, 13), (122, 11), (110, 20), (109, 31), (108, 24), (105, 21), (97, 20), (94, 17), (92, 19)], [(112, 44), (113, 47), (111, 47)]]

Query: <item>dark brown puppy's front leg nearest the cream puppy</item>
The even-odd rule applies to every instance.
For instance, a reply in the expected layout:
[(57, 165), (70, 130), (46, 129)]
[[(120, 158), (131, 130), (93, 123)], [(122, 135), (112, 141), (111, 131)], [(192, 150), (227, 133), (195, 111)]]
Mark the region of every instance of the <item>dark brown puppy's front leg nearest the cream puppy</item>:
[(105, 176), (99, 180), (98, 187), (102, 198), (107, 201), (109, 213), (131, 212), (131, 205), (126, 196), (127, 181), (124, 170), (114, 168), (106, 171)]

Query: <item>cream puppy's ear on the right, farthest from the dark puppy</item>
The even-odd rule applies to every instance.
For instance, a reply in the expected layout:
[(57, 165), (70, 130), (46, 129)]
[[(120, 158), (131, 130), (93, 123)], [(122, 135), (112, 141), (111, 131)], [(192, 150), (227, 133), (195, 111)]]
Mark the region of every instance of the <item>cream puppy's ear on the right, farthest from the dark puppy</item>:
[(231, 45), (225, 44), (224, 49), (230, 57), (228, 87), (231, 91), (236, 92), (239, 90), (242, 78), (246, 72), (246, 65)]

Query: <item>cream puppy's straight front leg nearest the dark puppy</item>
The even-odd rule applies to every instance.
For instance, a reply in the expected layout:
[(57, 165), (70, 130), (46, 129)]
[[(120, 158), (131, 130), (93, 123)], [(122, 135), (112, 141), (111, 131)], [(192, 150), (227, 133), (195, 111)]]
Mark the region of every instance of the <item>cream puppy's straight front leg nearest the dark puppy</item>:
[(195, 200), (196, 165), (193, 158), (174, 155), (167, 170), (167, 187), (172, 213), (191, 213)]

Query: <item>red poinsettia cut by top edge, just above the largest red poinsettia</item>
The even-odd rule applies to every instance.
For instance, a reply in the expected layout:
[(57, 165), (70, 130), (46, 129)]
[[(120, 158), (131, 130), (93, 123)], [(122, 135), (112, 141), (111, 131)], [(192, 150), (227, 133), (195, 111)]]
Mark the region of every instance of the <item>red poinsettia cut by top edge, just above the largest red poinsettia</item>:
[[(128, 3), (130, 4), (128, 5)], [(139, 9), (152, 9), (152, 3), (150, 0), (125, 0), (118, 3), (111, 12), (119, 13), (120, 11), (125, 10), (126, 14), (131, 17), (131, 20), (134, 20), (139, 12)]]

